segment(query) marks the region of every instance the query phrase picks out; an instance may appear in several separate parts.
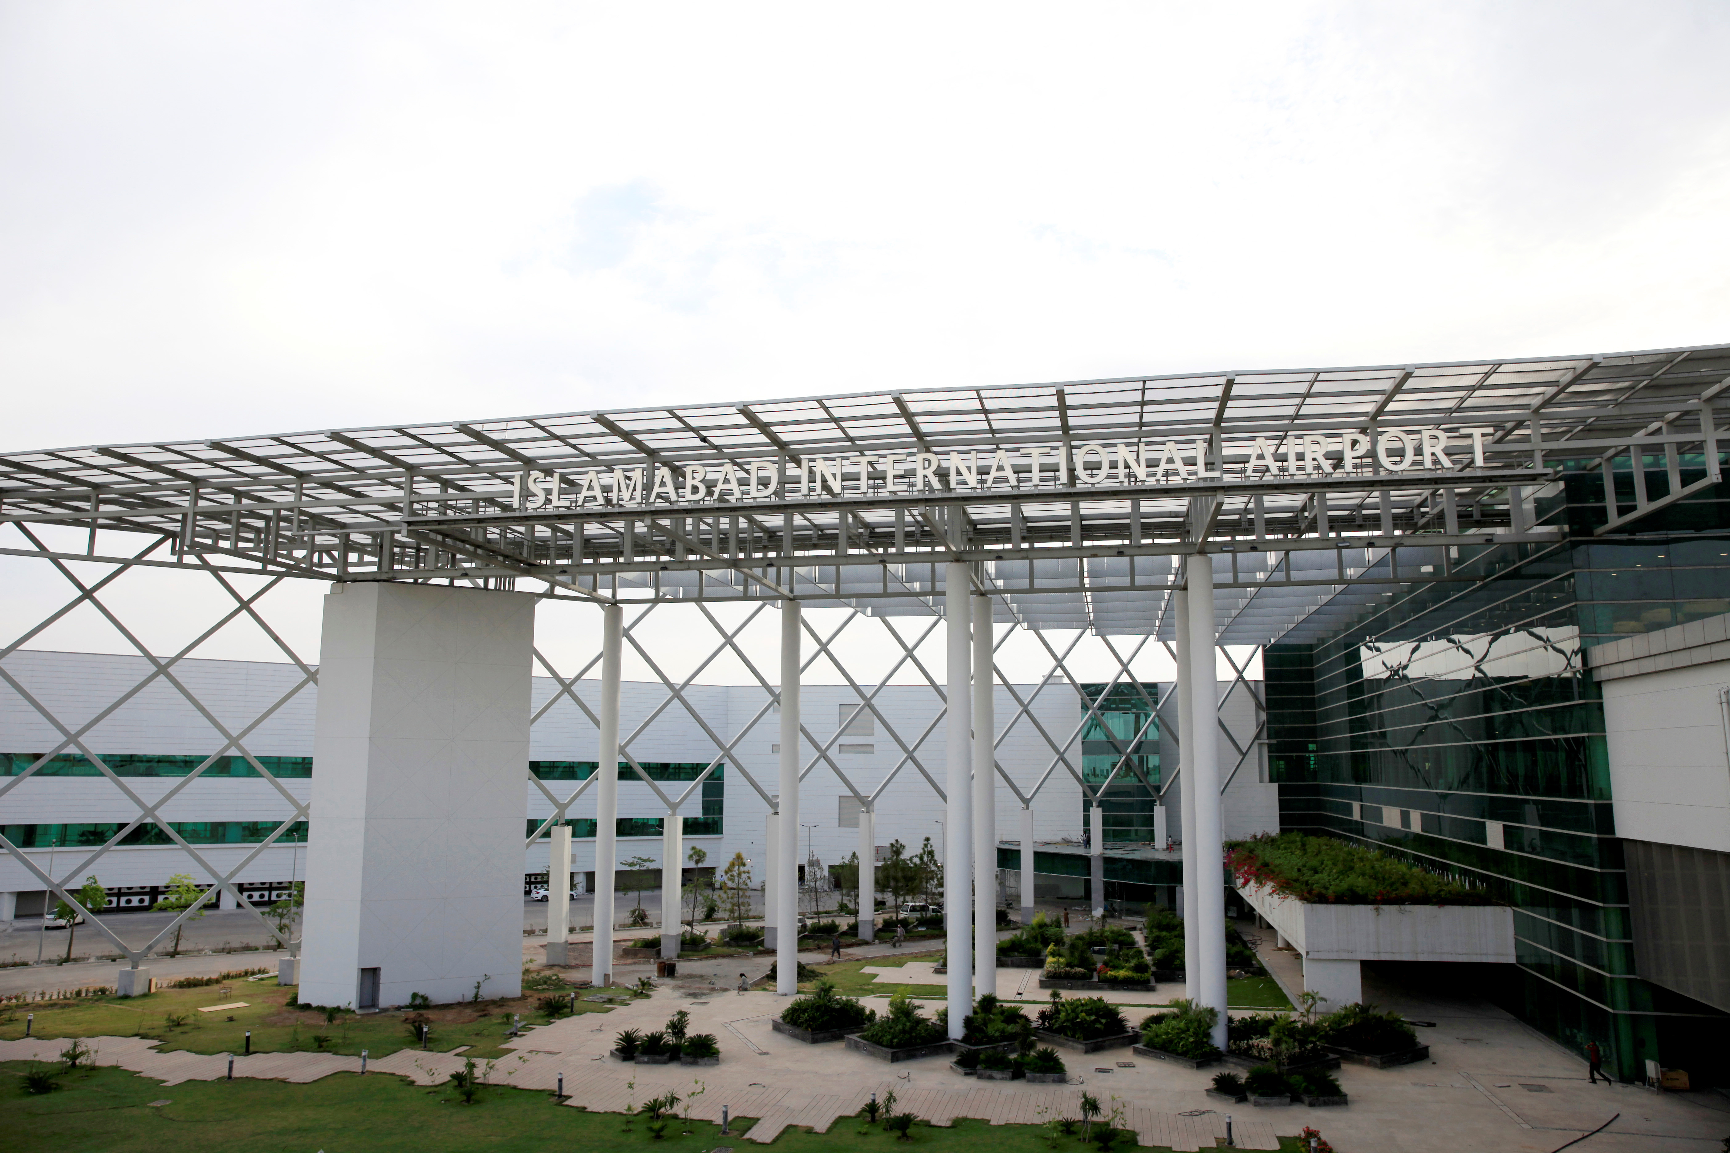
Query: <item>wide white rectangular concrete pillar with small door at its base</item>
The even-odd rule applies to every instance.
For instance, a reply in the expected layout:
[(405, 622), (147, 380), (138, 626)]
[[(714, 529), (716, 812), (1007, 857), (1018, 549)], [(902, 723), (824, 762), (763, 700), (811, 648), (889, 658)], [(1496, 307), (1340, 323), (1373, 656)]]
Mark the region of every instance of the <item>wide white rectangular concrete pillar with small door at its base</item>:
[[(325, 596), (301, 999), (522, 992), (535, 598), (438, 584)], [(375, 984), (374, 984), (375, 978)]]

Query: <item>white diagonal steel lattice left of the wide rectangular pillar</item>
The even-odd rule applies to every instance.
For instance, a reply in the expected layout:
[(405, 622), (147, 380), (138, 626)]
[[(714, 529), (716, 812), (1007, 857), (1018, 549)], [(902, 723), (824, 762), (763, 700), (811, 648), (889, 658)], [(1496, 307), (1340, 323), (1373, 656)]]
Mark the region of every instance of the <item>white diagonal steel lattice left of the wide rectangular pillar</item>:
[[(137, 638), (137, 634), (133, 634), (133, 631), (130, 627), (126, 627), (126, 624), (119, 619), (119, 615), (114, 614), (114, 610), (109, 608), (109, 605), (104, 603), (100, 596), (97, 596), (99, 591), (102, 591), (104, 588), (107, 588), (112, 581), (119, 579), (119, 576), (123, 576), (128, 570), (130, 565), (116, 565), (111, 572), (104, 574), (99, 581), (93, 581), (93, 583), (86, 584), (86, 583), (80, 581), (71, 572), (71, 569), (66, 567), (66, 564), (62, 562), (62, 558), (57, 557), (57, 555), (54, 555), (54, 551), (40, 538), (36, 538), (29, 529), (26, 529), (24, 526), (17, 526), (17, 529), (31, 543), (31, 546), (43, 558), (47, 558), (48, 564), (54, 565), (54, 569), (78, 591), (78, 595), (71, 602), (67, 602), (67, 605), (64, 605), (61, 610), (50, 614), (48, 617), (45, 617), (43, 621), (40, 621), (36, 626), (33, 626), (31, 629), (28, 629), (22, 636), (19, 636), (16, 641), (12, 641), (12, 645), (9, 645), (5, 650), (0, 650), (0, 660), (3, 660), (7, 655), (17, 652), (17, 648), (21, 645), (24, 645), (29, 638), (38, 636), (43, 629), (47, 629), (55, 621), (62, 619), (73, 608), (88, 603), (92, 608), (95, 608), (109, 622), (111, 627), (114, 627), (114, 631), (118, 631), (126, 640), (128, 645), (131, 645), (151, 664), (151, 672), (142, 681), (138, 681), (137, 685), (133, 685), (130, 690), (126, 690), (125, 693), (121, 693), (121, 697), (116, 698), (114, 702), (111, 702), (106, 709), (99, 710), (95, 717), (88, 719), (78, 729), (73, 729), (67, 724), (64, 724), (47, 705), (43, 705), (35, 697), (35, 693), (31, 693), (16, 676), (12, 676), (12, 672), (7, 671), (3, 667), (3, 664), (0, 664), (0, 679), (3, 679), (19, 695), (21, 700), (24, 700), (38, 716), (42, 716), (50, 726), (54, 726), (61, 733), (61, 743), (55, 745), (55, 748), (52, 752), (43, 754), (42, 757), (38, 757), (17, 778), (14, 778), (14, 780), (7, 781), (3, 787), (0, 787), (0, 797), (3, 797), (7, 792), (10, 792), (17, 785), (21, 785), (28, 776), (35, 774), (54, 755), (59, 755), (61, 752), (66, 752), (67, 748), (76, 748), (80, 754), (85, 755), (86, 761), (90, 761), (90, 764), (93, 764), (97, 768), (99, 773), (102, 773), (121, 792), (121, 795), (125, 795), (138, 809), (138, 816), (135, 816), (131, 821), (128, 821), (123, 830), (119, 830), (114, 837), (111, 837), (95, 852), (88, 854), (83, 861), (80, 861), (80, 864), (76, 868), (73, 868), (71, 871), (67, 871), (64, 875), (64, 878), (57, 878), (57, 876), (52, 876), (47, 871), (43, 871), (29, 857), (29, 854), (26, 850), (22, 850), (19, 845), (12, 844), (10, 838), (0, 837), (0, 847), (3, 847), (5, 852), (12, 859), (16, 859), (19, 864), (22, 864), (33, 876), (36, 876), (38, 880), (42, 880), (43, 887), (48, 892), (55, 894), (69, 908), (76, 909), (80, 916), (83, 916), (92, 927), (95, 927), (95, 930), (100, 932), (111, 944), (114, 944), (114, 947), (118, 947), (133, 965), (137, 965), (138, 961), (145, 959), (151, 954), (151, 951), (156, 949), (156, 946), (159, 946), (163, 940), (168, 939), (170, 933), (173, 933), (176, 928), (180, 928), (187, 921), (187, 918), (195, 916), (199, 913), (199, 909), (202, 909), (209, 902), (211, 895), (220, 894), (220, 892), (232, 894), (234, 899), (235, 899), (235, 906), (237, 908), (244, 908), (247, 913), (251, 913), (270, 937), (273, 937), (277, 942), (280, 942), (285, 949), (292, 951), (294, 949), (294, 942), (291, 940), (291, 935), (284, 935), (280, 930), (277, 930), (265, 918), (263, 913), (260, 913), (256, 908), (253, 908), (253, 904), (249, 901), (244, 901), (240, 897), (240, 892), (234, 885), (234, 878), (237, 878), (254, 859), (258, 859), (258, 856), (261, 852), (265, 852), (265, 849), (272, 847), (289, 828), (294, 826), (296, 821), (304, 819), (308, 816), (308, 806), (301, 804), (294, 797), (294, 793), (289, 792), (282, 785), (282, 781), (277, 780), (277, 776), (273, 773), (270, 773), (270, 769), (266, 769), (258, 761), (258, 757), (253, 755), (253, 752), (244, 743), (244, 736), (246, 735), (249, 735), (253, 729), (256, 729), (260, 724), (263, 724), (266, 719), (270, 719), (270, 716), (273, 716), (279, 709), (282, 709), (289, 700), (294, 698), (294, 695), (298, 695), (308, 685), (315, 685), (317, 683), (317, 671), (311, 669), (304, 660), (301, 660), (299, 655), (292, 650), (292, 647), (289, 647), (282, 640), (282, 636), (273, 627), (270, 627), (270, 624), (256, 610), (258, 600), (261, 600), (266, 593), (270, 593), (273, 588), (277, 588), (277, 584), (280, 584), (280, 581), (284, 577), (280, 577), (280, 576), (273, 577), (263, 588), (260, 588), (256, 593), (253, 593), (251, 596), (242, 596), (240, 591), (235, 589), (234, 584), (228, 583), (227, 577), (223, 577), (221, 572), (218, 572), (209, 564), (208, 558), (201, 557), (199, 562), (202, 565), (202, 570), (208, 576), (213, 577), (213, 581), (218, 584), (218, 588), (221, 588), (223, 593), (227, 593), (230, 600), (235, 602), (235, 607), (232, 610), (228, 610), (221, 619), (218, 619), (216, 624), (209, 626), (204, 633), (201, 633), (190, 645), (183, 647), (173, 657), (163, 660), (163, 659), (157, 659), (154, 653), (151, 653), (149, 648)], [(166, 541), (166, 538), (151, 543), (149, 546), (145, 546), (144, 550), (140, 550), (137, 553), (137, 558), (147, 557), (151, 551), (154, 551), (156, 548), (159, 548), (164, 541)], [(180, 681), (180, 678), (176, 678), (173, 674), (173, 666), (178, 664), (180, 660), (185, 660), (194, 650), (197, 650), (199, 645), (202, 645), (204, 641), (208, 641), (211, 636), (215, 636), (218, 631), (221, 631), (223, 627), (227, 627), (230, 622), (234, 622), (240, 615), (247, 615), (249, 619), (253, 619), (260, 626), (260, 629), (272, 640), (272, 643), (275, 643), (291, 659), (291, 662), (294, 662), (301, 669), (301, 679), (287, 693), (284, 693), (272, 705), (268, 705), (260, 716), (256, 716), (251, 723), (247, 723), (244, 728), (240, 728), (239, 731), (228, 731), (228, 728), (225, 724), (221, 724), (221, 721), (216, 719), (216, 716), (197, 698), (197, 695), (183, 681)], [(190, 704), (192, 709), (201, 717), (204, 717), (204, 721), (223, 738), (223, 743), (221, 743), (221, 747), (215, 754), (211, 754), (199, 766), (195, 766), (192, 769), (192, 773), (189, 773), (185, 778), (182, 778), (161, 799), (157, 799), (154, 804), (147, 804), (144, 800), (144, 797), (140, 797), (130, 785), (126, 785), (125, 780), (118, 773), (114, 773), (114, 769), (85, 743), (85, 736), (97, 724), (100, 724), (104, 719), (107, 719), (109, 716), (112, 716), (119, 707), (123, 707), (128, 700), (131, 700), (133, 697), (137, 697), (140, 691), (144, 691), (144, 688), (147, 688), (149, 685), (152, 685), (157, 679), (163, 679), (170, 686), (173, 686), (175, 691), (178, 691), (187, 700), (187, 704)], [(256, 771), (260, 776), (263, 776), (277, 790), (277, 793), (284, 800), (287, 800), (287, 804), (291, 807), (291, 814), (284, 821), (280, 821), (277, 825), (277, 828), (273, 828), (260, 844), (256, 844), (240, 859), (239, 864), (235, 864), (232, 870), (228, 870), (225, 873), (225, 871), (215, 868), (204, 857), (204, 854), (201, 854), (197, 849), (194, 849), (192, 844), (185, 840), (185, 837), (182, 837), (166, 819), (163, 819), (163, 816), (161, 816), (159, 811), (173, 797), (176, 797), (183, 788), (187, 788), (194, 780), (197, 780), (199, 776), (202, 776), (204, 771), (209, 766), (213, 766), (220, 757), (227, 755), (230, 748), (235, 750), (239, 755), (242, 755), (247, 761), (247, 764), (253, 768), (253, 771)], [(86, 870), (92, 864), (95, 864), (102, 856), (106, 856), (111, 849), (114, 849), (131, 830), (135, 830), (138, 825), (142, 825), (145, 821), (149, 821), (156, 828), (159, 828), (164, 837), (168, 837), (201, 870), (204, 870), (204, 873), (213, 878), (213, 885), (209, 889), (206, 889), (204, 894), (201, 894), (197, 897), (197, 901), (194, 901), (187, 909), (182, 909), (180, 914), (168, 927), (164, 927), (161, 932), (157, 932), (157, 935), (152, 937), (145, 946), (142, 946), (140, 949), (133, 949), (125, 940), (119, 939), (119, 935), (109, 927), (107, 921), (104, 921), (102, 916), (99, 916), (97, 911), (85, 908), (85, 904), (74, 895), (74, 890), (66, 889), (66, 882), (76, 878), (78, 873), (81, 873), (83, 870)]]

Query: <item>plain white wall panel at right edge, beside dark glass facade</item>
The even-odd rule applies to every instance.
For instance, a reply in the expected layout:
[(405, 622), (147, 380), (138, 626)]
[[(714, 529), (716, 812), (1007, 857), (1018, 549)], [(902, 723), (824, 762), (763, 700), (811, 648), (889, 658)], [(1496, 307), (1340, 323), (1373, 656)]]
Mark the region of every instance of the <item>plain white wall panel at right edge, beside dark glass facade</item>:
[(1730, 852), (1730, 662), (1604, 681), (1616, 835)]

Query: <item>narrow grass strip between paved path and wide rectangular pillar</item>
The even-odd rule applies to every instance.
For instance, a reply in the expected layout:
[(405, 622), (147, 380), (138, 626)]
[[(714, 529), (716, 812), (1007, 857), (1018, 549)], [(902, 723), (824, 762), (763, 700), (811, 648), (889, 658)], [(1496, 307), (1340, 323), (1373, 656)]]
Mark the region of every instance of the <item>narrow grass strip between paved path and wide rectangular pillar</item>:
[[(24, 1016), (35, 1013), (36, 1037), (161, 1037), (161, 1051), (185, 1049), (189, 1053), (242, 1053), (246, 1030), (253, 1032), (254, 1053), (317, 1051), (315, 1037), (327, 1037), (327, 1053), (358, 1056), (367, 1049), (372, 1056), (388, 1056), (419, 1042), (403, 1023), (403, 1011), (368, 1013), (355, 1016), (343, 1013), (325, 1022), (313, 1010), (287, 1008), (291, 989), (277, 985), (275, 977), (261, 982), (228, 982), (228, 996), (221, 985), (202, 989), (163, 989), (142, 997), (92, 997), (80, 1001), (40, 1001), (9, 1004), (0, 1015), (0, 1037), (16, 1041), (24, 1035)], [(578, 1013), (606, 1013), (609, 1010), (581, 999)], [(547, 1020), (536, 1008), (536, 999), (548, 992), (529, 992), (514, 1001), (483, 1001), (479, 1004), (445, 1004), (427, 1011), (432, 1018), (429, 1049), (450, 1051), (472, 1046), (474, 1056), (503, 1056), (498, 1044), (505, 1039), (514, 1015), (524, 1025)], [(246, 1008), (201, 1013), (213, 1004), (246, 1001)], [(180, 1020), (180, 1023), (173, 1023)]]

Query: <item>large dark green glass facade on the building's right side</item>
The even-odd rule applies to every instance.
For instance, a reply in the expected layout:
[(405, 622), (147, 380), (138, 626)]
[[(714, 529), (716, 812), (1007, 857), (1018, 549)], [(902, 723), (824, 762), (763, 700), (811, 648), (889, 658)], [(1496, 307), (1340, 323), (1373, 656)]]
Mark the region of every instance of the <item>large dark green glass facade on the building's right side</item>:
[[(1618, 487), (1631, 506), (1631, 474)], [(1597, 1041), (1637, 1079), (1645, 1060), (1721, 1063), (1708, 1037), (1730, 1022), (1635, 975), (1585, 650), (1730, 610), (1730, 515), (1706, 489), (1640, 522), (1663, 534), (1593, 539), (1602, 501), (1581, 462), (1536, 501), (1564, 527), (1555, 545), (1432, 550), (1424, 564), (1457, 579), (1391, 584), (1332, 636), (1268, 647), (1263, 667), (1282, 826), (1490, 887), (1514, 908), (1507, 1008), (1574, 1051)]]

